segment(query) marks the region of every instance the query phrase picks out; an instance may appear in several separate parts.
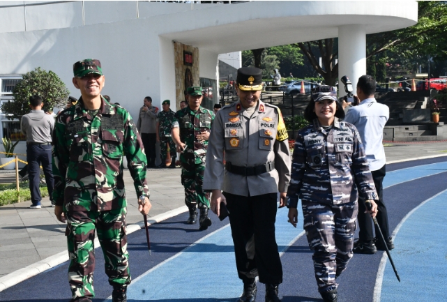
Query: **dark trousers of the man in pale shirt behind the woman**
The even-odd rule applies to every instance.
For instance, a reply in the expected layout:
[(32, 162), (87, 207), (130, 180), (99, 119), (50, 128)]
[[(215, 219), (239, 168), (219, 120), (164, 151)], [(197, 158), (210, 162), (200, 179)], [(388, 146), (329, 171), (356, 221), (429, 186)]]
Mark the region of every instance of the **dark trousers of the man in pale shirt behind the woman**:
[[(386, 211), (386, 206), (384, 203), (384, 186), (383, 181), (386, 174), (386, 165), (378, 170), (371, 171), (372, 180), (374, 181), (374, 186), (376, 186), (377, 195), (379, 195), (379, 201), (377, 204), (377, 223), (384, 234), (385, 238), (390, 236), (390, 227), (388, 225), (388, 212)], [(372, 233), (372, 219), (369, 213), (365, 213), (365, 199), (363, 197), (358, 198), (358, 227), (360, 231), (358, 233), (358, 238), (363, 242), (372, 241), (374, 239), (374, 234)], [(379, 229), (375, 227), (375, 234), (377, 237), (379, 235)]]

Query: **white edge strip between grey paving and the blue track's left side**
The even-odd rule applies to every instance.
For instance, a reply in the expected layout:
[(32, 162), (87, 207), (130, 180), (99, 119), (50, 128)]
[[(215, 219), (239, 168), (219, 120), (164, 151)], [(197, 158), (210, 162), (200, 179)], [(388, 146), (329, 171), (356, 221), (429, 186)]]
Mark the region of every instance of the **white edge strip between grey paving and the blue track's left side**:
[[(160, 222), (163, 220), (167, 220), (168, 218), (172, 218), (181, 213), (188, 211), (187, 206), (181, 206), (177, 209), (167, 211), (165, 213), (161, 213), (160, 215), (154, 216), (148, 220), (148, 225), (152, 225), (156, 222)], [(144, 221), (137, 222), (132, 225), (127, 226), (127, 234), (133, 233), (139, 229), (144, 227)], [(95, 239), (94, 246), (96, 248), (100, 247), (98, 238)], [(56, 255), (52, 255), (47, 257), (39, 262), (33, 263), (29, 266), (24, 267), (23, 269), (18, 269), (17, 271), (13, 271), (12, 273), (8, 273), (8, 275), (4, 275), (0, 278), (0, 292), (8, 287), (12, 287), (17, 283), (20, 283), (28, 278), (34, 277), (43, 271), (47, 271), (48, 269), (52, 269), (54, 266), (58, 266), (59, 264), (68, 261), (68, 252), (64, 250), (63, 252), (59, 252)]]

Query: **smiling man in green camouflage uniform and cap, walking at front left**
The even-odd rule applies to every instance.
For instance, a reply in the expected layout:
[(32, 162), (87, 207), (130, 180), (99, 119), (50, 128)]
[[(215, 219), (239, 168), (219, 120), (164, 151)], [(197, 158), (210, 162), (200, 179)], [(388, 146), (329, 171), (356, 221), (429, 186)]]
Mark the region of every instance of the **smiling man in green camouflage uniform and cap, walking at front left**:
[(67, 220), (71, 301), (94, 296), (95, 230), (105, 257), (105, 272), (114, 287), (114, 302), (126, 301), (130, 284), (126, 239), (126, 190), (123, 154), (134, 179), (139, 211), (151, 207), (146, 184), (146, 156), (130, 114), (100, 95), (104, 85), (100, 61), (73, 66), (73, 84), (82, 98), (56, 118), (53, 133), (54, 213)]

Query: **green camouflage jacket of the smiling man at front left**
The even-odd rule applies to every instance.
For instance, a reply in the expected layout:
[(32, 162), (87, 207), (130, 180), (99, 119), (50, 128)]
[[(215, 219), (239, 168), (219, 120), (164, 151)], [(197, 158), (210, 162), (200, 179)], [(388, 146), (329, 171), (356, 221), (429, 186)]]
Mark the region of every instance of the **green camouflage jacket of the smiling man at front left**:
[(126, 155), (137, 196), (149, 196), (146, 156), (129, 112), (103, 98), (96, 116), (79, 102), (56, 118), (53, 132), (53, 203), (64, 211), (123, 208)]

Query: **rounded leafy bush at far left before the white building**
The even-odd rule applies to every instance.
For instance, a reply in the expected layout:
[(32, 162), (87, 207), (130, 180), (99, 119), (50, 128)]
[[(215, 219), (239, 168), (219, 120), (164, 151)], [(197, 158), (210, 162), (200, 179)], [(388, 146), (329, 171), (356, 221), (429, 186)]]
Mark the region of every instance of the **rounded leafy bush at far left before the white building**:
[(63, 107), (69, 91), (56, 73), (36, 68), (23, 75), (13, 90), (13, 101), (3, 103), (1, 111), (8, 119), (20, 119), (29, 113), (29, 97), (38, 95), (44, 103), (44, 110), (52, 111), (53, 107)]

